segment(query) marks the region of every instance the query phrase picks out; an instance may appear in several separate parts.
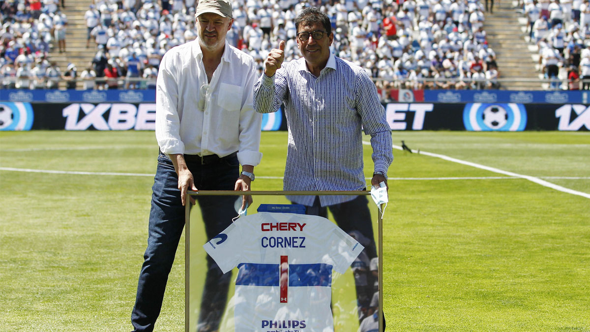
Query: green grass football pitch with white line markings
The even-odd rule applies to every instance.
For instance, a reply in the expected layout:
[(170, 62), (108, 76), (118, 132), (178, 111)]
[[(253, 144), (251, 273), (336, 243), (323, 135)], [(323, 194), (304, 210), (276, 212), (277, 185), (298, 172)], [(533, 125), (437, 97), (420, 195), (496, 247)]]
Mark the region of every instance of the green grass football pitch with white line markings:
[[(587, 132), (392, 135), (590, 193)], [(286, 142), (284, 132), (263, 133), (254, 190), (282, 189), (274, 177)], [(153, 132), (0, 132), (0, 331), (131, 330), (157, 154)], [(394, 155), (383, 226), (388, 331), (590, 331), (588, 198)], [(365, 169), (369, 177), (369, 146)], [(184, 328), (183, 253), (181, 240), (159, 331)]]

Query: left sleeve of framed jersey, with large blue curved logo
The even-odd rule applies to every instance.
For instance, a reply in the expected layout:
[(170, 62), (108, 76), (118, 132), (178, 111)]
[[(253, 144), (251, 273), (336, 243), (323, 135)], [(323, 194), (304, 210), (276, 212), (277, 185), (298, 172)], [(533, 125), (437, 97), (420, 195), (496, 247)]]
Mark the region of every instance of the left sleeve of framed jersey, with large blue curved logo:
[(241, 239), (240, 227), (232, 223), (223, 232), (209, 240), (203, 248), (217, 263), (223, 273), (231, 271), (240, 262)]

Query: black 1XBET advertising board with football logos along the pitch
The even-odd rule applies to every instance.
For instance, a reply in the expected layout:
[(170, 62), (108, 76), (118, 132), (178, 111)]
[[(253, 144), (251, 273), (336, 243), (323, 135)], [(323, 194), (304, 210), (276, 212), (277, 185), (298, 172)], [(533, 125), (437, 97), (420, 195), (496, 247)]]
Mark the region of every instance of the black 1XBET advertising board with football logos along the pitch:
[[(395, 131), (588, 131), (587, 104), (386, 103)], [(0, 130), (148, 130), (155, 129), (155, 103), (0, 102)], [(264, 114), (263, 131), (285, 131), (282, 111)]]

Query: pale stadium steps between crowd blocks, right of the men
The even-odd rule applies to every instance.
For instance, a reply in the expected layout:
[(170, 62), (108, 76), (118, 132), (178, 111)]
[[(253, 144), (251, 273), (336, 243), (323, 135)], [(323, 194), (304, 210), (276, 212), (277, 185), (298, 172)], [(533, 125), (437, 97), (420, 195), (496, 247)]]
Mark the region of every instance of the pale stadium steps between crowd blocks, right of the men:
[[(533, 52), (524, 40), (526, 35), (518, 24), (519, 14), (504, 1), (486, 13), (484, 30), (489, 46), (496, 52), (498, 71), (502, 79), (538, 80)], [(503, 82), (502, 89), (540, 90), (539, 82)]]

